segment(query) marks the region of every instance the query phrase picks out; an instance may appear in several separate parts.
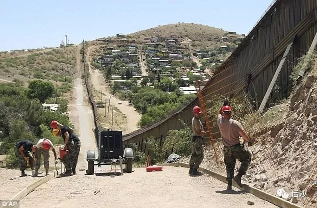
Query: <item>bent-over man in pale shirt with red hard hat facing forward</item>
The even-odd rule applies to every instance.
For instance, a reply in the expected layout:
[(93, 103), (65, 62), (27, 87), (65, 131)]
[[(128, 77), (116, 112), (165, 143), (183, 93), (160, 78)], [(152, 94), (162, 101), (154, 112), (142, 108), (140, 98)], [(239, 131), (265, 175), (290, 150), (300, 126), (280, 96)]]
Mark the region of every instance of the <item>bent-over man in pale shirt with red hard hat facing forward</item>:
[(57, 155), (56, 155), (56, 151), (54, 149), (54, 145), (52, 144), (52, 142), (48, 139), (40, 139), (38, 140), (37, 144), (35, 145), (35, 153), (34, 153), (34, 160), (35, 160), (35, 172), (33, 174), (33, 176), (37, 176), (38, 174), (38, 169), (40, 167), (40, 159), (41, 159), (41, 155), (43, 155), (43, 162), (44, 162), (44, 168), (45, 168), (45, 174), (48, 174), (48, 168), (49, 168), (49, 152), (48, 150), (51, 150), (54, 154), (54, 162), (55, 164), (57, 163)]

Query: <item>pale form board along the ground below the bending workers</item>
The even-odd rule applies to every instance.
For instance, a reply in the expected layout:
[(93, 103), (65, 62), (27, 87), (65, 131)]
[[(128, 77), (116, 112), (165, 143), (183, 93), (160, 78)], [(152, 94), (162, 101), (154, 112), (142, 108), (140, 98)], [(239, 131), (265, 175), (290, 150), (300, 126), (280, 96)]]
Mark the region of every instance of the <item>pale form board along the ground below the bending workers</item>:
[[(58, 173), (61, 173), (61, 169), (58, 169), (57, 171), (54, 172), (50, 172), (49, 175), (46, 175), (44, 177), (41, 177), (40, 179), (34, 181), (33, 183), (29, 184), (28, 186), (24, 187), (22, 190), (20, 190), (18, 193), (16, 193), (11, 199), (18, 201), (17, 204), (15, 204), (14, 206), (11, 207), (18, 207), (19, 205), (19, 201), (24, 198), (27, 194), (29, 194), (30, 192), (32, 192), (35, 188), (37, 188), (38, 186), (40, 186), (41, 184), (47, 182), (48, 180), (52, 179), (53, 177), (56, 177), (58, 175)], [(0, 208), (4, 207), (2, 204), (0, 204)]]

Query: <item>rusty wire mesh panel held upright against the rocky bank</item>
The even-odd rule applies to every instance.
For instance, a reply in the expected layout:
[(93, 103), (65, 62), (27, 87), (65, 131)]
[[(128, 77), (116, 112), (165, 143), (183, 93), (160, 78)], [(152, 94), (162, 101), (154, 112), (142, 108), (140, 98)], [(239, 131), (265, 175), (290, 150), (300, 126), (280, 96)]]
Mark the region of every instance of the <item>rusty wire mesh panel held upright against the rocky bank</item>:
[[(229, 69), (229, 68), (228, 68)], [(225, 69), (222, 73), (227, 73)], [(230, 70), (228, 70), (230, 71)], [(232, 118), (241, 123), (244, 130), (251, 139), (255, 139), (252, 146), (243, 143), (251, 153), (251, 163), (249, 168), (260, 172), (263, 170), (274, 169), (275, 162), (271, 157), (272, 144), (266, 139), (266, 133), (270, 132), (266, 120), (256, 113), (256, 101), (244, 92), (245, 84), (242, 80), (232, 82), (232, 74), (217, 80), (214, 78), (213, 83), (204, 88), (204, 82), (195, 82), (195, 89), (199, 104), (204, 115), (205, 127), (209, 131), (209, 145), (205, 149), (205, 161), (207, 168), (221, 175), (226, 175), (226, 168), (223, 161), (223, 144), (221, 134), (217, 124), (217, 117), (223, 105), (223, 99), (228, 98), (232, 109)], [(213, 89), (212, 86), (217, 88)], [(219, 87), (219, 85), (221, 85)], [(272, 133), (272, 132), (271, 132)], [(236, 169), (240, 166), (240, 162), (236, 161)]]

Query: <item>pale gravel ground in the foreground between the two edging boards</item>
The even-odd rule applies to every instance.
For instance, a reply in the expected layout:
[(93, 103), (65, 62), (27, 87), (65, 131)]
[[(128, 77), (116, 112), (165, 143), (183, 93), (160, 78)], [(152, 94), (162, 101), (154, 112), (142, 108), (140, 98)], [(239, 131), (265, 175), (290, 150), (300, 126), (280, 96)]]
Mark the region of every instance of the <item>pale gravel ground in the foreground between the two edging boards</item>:
[[(102, 167), (102, 166), (101, 166)], [(123, 176), (102, 173), (56, 177), (42, 184), (20, 201), (20, 207), (277, 207), (256, 196), (235, 189), (223, 191), (226, 183), (208, 175), (188, 176), (187, 168), (164, 166), (163, 171), (134, 168)], [(98, 172), (97, 170), (95, 173)], [(34, 203), (34, 198), (41, 198)]]

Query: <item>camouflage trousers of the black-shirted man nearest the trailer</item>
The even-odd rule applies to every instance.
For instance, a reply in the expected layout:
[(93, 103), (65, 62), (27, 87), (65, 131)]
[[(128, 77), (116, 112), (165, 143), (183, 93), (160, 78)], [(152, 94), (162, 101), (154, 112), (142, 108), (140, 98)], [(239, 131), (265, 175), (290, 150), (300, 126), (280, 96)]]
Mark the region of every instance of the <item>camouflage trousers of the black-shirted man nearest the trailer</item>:
[(70, 170), (71, 168), (76, 168), (80, 151), (80, 141), (74, 142), (73, 144), (67, 142), (66, 147), (68, 148), (67, 154), (64, 155), (60, 161), (64, 164), (66, 170)]

